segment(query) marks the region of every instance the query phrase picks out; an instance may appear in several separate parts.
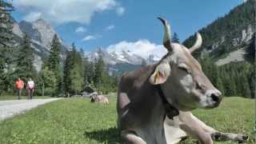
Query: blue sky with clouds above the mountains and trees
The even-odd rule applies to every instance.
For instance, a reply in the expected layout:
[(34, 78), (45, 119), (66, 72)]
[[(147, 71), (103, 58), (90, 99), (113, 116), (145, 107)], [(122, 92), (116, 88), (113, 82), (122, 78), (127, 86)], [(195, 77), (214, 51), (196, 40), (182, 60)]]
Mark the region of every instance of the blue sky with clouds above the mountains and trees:
[(67, 43), (90, 51), (142, 39), (161, 45), (163, 28), (157, 17), (170, 22), (181, 41), (242, 0), (14, 0), (14, 18), (49, 21)]

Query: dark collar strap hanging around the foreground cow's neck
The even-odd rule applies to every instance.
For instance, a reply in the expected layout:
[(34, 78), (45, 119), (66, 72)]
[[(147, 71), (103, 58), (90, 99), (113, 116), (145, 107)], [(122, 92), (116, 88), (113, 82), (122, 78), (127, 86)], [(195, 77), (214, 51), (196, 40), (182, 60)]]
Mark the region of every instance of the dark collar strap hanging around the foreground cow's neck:
[(171, 104), (167, 101), (165, 94), (162, 92), (162, 88), (160, 85), (157, 86), (158, 94), (160, 95), (160, 98), (162, 99), (162, 104), (166, 110), (166, 115), (168, 118), (173, 119), (175, 116), (179, 114), (178, 109), (176, 109), (174, 106), (171, 106)]

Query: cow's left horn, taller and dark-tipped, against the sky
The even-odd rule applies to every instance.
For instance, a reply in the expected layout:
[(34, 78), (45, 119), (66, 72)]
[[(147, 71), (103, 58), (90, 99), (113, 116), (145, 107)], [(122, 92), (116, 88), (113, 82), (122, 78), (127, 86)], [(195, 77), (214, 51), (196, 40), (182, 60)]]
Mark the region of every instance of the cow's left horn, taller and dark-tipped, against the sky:
[(160, 21), (164, 25), (164, 30), (165, 30), (165, 34), (164, 34), (164, 38), (163, 38), (163, 46), (165, 46), (167, 50), (172, 51), (173, 49), (172, 49), (171, 41), (170, 41), (170, 25), (166, 21), (166, 19), (160, 18), (160, 17), (158, 17), (158, 19), (160, 19)]

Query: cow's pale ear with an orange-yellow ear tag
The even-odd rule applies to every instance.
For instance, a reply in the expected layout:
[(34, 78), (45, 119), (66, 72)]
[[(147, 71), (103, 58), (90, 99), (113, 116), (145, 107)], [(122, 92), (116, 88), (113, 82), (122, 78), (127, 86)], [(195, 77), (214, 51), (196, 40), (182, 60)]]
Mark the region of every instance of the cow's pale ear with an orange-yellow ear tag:
[(150, 83), (152, 85), (158, 85), (166, 82), (170, 75), (170, 65), (168, 63), (159, 64), (154, 70), (154, 74), (150, 76)]

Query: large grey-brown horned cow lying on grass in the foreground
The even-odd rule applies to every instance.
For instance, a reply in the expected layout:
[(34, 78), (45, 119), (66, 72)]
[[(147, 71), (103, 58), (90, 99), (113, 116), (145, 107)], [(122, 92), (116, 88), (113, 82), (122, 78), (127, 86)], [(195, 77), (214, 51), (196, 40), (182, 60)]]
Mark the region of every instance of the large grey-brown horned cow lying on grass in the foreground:
[(190, 110), (214, 108), (222, 101), (217, 90), (191, 53), (202, 45), (202, 37), (190, 49), (170, 42), (170, 26), (164, 25), (163, 45), (168, 53), (157, 64), (123, 74), (118, 86), (118, 128), (127, 144), (172, 144), (187, 135), (200, 143), (244, 142), (242, 134), (222, 133), (196, 118)]

